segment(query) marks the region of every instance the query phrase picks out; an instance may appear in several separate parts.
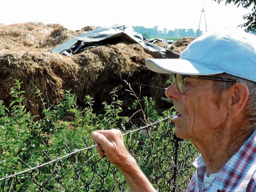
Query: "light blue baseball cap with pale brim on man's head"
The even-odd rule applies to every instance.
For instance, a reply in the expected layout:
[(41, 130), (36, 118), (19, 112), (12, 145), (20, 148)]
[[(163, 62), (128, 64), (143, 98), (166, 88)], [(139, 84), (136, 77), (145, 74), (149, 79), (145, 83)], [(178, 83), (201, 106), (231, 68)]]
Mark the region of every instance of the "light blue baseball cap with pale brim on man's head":
[(256, 35), (238, 29), (208, 32), (192, 41), (179, 59), (147, 59), (145, 65), (159, 73), (225, 72), (256, 82)]

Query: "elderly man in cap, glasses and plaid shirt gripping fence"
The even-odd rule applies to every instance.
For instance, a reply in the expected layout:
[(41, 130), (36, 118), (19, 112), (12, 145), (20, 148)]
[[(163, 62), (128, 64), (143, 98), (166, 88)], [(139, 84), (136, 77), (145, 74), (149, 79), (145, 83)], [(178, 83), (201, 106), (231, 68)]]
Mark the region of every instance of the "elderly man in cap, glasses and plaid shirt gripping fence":
[[(165, 94), (178, 112), (175, 133), (201, 155), (187, 192), (256, 191), (256, 36), (244, 31), (206, 33), (180, 59), (147, 59), (168, 73)], [(95, 131), (98, 152), (123, 172), (131, 191), (156, 191), (126, 150), (116, 129)]]

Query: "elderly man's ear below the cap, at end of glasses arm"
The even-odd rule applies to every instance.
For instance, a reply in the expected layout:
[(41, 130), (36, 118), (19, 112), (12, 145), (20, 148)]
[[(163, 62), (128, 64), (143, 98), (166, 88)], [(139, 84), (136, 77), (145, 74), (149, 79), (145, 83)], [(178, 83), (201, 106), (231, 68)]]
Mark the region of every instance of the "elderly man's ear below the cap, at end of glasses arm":
[(230, 94), (230, 113), (233, 116), (237, 116), (243, 110), (248, 100), (249, 90), (245, 84), (236, 83), (230, 87), (228, 94)]

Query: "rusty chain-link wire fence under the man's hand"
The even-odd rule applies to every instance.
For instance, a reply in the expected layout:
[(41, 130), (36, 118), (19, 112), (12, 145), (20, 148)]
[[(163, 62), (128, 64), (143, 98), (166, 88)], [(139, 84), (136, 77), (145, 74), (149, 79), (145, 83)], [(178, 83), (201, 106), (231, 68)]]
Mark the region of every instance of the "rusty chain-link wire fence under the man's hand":
[[(145, 127), (124, 131), (127, 149), (159, 192), (180, 192), (186, 189), (194, 172), (192, 161), (198, 151), (187, 140), (176, 137), (170, 117)], [(127, 192), (124, 176), (105, 157), (100, 157), (96, 145), (70, 151), (47, 163), (30, 167), (0, 178), (2, 192)], [(57, 154), (56, 154), (57, 155)]]

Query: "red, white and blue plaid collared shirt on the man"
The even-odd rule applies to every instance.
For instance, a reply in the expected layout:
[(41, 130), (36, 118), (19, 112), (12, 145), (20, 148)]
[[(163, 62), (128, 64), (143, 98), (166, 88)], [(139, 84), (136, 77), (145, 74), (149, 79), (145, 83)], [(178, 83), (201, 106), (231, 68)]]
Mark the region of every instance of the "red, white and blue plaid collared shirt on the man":
[(256, 130), (222, 167), (210, 186), (204, 185), (206, 166), (200, 155), (186, 192), (256, 192)]

